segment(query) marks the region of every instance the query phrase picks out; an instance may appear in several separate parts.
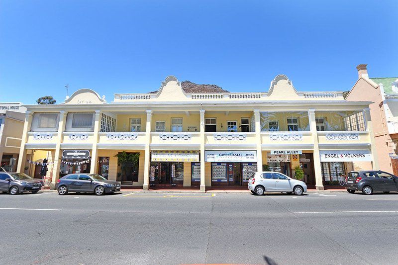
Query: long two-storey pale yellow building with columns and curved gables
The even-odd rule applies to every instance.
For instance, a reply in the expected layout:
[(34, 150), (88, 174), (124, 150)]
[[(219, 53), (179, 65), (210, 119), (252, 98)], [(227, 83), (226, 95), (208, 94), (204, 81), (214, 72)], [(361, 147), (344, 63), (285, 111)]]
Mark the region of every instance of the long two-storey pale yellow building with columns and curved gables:
[(205, 190), (246, 186), (268, 168), (294, 177), (300, 167), (323, 189), (354, 168), (377, 167), (369, 103), (298, 92), (285, 75), (268, 92), (243, 93), (170, 76), (155, 92), (114, 94), (110, 103), (80, 89), (58, 105), (26, 106), (18, 170), (33, 150), (54, 163), (52, 187), (69, 173), (98, 173), (144, 190)]

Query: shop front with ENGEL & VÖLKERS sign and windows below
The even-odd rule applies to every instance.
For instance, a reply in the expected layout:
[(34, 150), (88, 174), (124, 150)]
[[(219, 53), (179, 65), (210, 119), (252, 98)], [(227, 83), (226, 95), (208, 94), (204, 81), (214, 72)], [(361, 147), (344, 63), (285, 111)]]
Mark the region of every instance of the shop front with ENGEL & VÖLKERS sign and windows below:
[(322, 181), (329, 185), (338, 184), (349, 171), (354, 170), (355, 164), (372, 161), (370, 150), (320, 150), (319, 154)]

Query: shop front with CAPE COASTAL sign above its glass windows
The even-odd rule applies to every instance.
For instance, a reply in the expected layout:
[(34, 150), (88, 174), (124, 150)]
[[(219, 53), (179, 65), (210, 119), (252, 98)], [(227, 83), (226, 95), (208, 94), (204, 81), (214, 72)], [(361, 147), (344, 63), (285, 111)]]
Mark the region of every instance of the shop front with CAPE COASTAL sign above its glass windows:
[(242, 186), (257, 171), (257, 151), (205, 151), (211, 185)]

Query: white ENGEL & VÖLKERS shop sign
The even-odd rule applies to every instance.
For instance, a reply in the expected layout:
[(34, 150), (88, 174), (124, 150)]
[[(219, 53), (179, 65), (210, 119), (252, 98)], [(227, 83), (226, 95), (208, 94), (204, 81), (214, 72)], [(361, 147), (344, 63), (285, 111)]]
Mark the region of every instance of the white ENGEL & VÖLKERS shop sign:
[(321, 162), (372, 161), (370, 150), (321, 150)]

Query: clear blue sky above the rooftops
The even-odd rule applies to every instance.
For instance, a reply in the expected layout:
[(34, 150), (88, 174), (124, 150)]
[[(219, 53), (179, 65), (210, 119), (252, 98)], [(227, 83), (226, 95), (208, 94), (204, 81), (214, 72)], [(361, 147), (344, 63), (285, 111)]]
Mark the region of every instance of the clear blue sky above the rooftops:
[[(319, 4), (321, 3), (321, 4)], [(0, 102), (79, 88), (149, 92), (169, 75), (229, 91), (349, 90), (398, 76), (398, 1), (1, 0)]]

